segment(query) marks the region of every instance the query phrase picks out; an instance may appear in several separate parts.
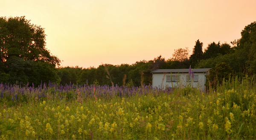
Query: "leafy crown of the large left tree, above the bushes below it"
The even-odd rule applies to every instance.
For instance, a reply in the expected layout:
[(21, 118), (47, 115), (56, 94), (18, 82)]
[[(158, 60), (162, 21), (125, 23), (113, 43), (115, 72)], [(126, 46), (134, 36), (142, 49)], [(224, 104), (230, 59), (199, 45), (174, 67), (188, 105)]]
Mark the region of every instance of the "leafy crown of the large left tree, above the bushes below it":
[(42, 60), (59, 65), (60, 60), (46, 48), (44, 28), (30, 23), (23, 17), (0, 17), (0, 54), (1, 63), (11, 57), (24, 60)]

